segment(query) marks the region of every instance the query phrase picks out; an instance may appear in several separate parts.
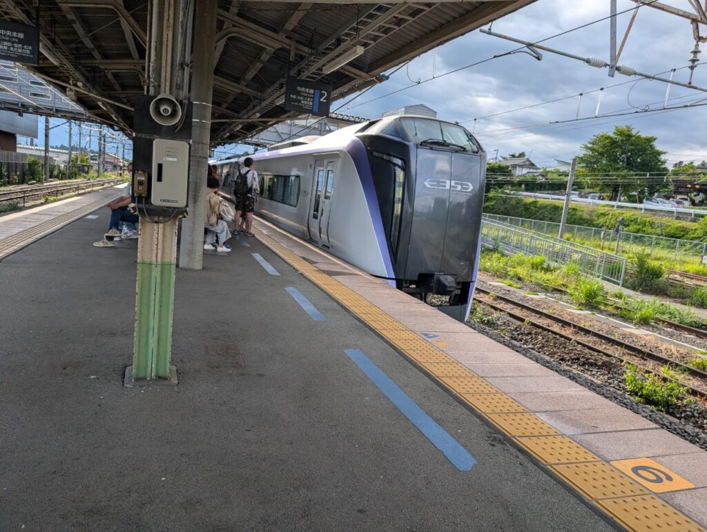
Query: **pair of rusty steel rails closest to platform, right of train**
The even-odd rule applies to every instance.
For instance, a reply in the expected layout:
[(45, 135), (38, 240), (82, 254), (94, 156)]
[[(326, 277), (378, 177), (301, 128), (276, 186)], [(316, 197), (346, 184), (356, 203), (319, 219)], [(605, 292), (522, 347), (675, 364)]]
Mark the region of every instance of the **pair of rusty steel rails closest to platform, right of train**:
[[(477, 287), (476, 290), (477, 290), (477, 292), (481, 292), (484, 295), (489, 295), (489, 296), (491, 295), (491, 290), (485, 290), (484, 288), (479, 288), (479, 287)], [(704, 379), (706, 382), (706, 385), (707, 385), (707, 372), (697, 370), (694, 367), (690, 367), (689, 365), (684, 364), (683, 362), (678, 362), (677, 360), (672, 360), (672, 358), (664, 357), (663, 355), (658, 355), (658, 353), (653, 353), (649, 350), (646, 350), (645, 348), (639, 347), (638, 345), (634, 345), (632, 343), (629, 343), (629, 342), (626, 342), (623, 340), (619, 340), (618, 338), (613, 338), (612, 336), (609, 336), (604, 333), (600, 333), (599, 331), (595, 331), (594, 329), (590, 329), (590, 328), (585, 327), (583, 325), (576, 324), (575, 322), (570, 321), (568, 319), (564, 319), (559, 316), (555, 316), (554, 314), (550, 314), (549, 312), (545, 312), (544, 310), (531, 307), (530, 305), (525, 305), (525, 303), (511, 300), (509, 297), (504, 297), (502, 295), (493, 294), (493, 298), (501, 300), (506, 303), (509, 303), (510, 305), (514, 305), (515, 307), (519, 307), (521, 309), (527, 310), (528, 312), (532, 312), (533, 314), (538, 314), (539, 316), (544, 317), (546, 319), (550, 319), (551, 321), (554, 321), (557, 324), (566, 326), (571, 329), (575, 329), (577, 331), (587, 334), (588, 336), (592, 336), (592, 337), (597, 338), (597, 339), (604, 341), (606, 343), (616, 345), (617, 347), (624, 349), (626, 351), (629, 351), (635, 355), (638, 355), (639, 357), (653, 360), (655, 362), (660, 362), (660, 363), (668, 365), (668, 366), (680, 367), (680, 368), (682, 368), (682, 370), (684, 370), (687, 374), (691, 375), (692, 377)], [(481, 302), (483, 302), (485, 305), (489, 305), (490, 307), (496, 308), (497, 310), (500, 310), (501, 312), (508, 313), (507, 309), (503, 309), (503, 307), (498, 307), (498, 305), (493, 305), (492, 302), (489, 302), (485, 298), (481, 299)], [(527, 317), (521, 317), (519, 314), (516, 314), (516, 316), (518, 316), (518, 318), (516, 318), (516, 319), (520, 319), (520, 321), (525, 321), (527, 319)], [(589, 343), (580, 341), (577, 338), (573, 338), (571, 336), (564, 335), (563, 333), (559, 333), (559, 331), (555, 331), (551, 327), (545, 326), (543, 324), (537, 324), (537, 326), (539, 326), (540, 329), (544, 329), (545, 331), (559, 334), (560, 336), (568, 338), (569, 340), (574, 341), (575, 343), (580, 343), (580, 345), (583, 345), (584, 347), (587, 347), (591, 350), (597, 351), (598, 353), (604, 353), (604, 354), (607, 353), (602, 348), (597, 348), (596, 346), (593, 346)], [(617, 355), (612, 355), (612, 356), (617, 356)], [(700, 393), (702, 395), (706, 394), (705, 391), (701, 391)]]

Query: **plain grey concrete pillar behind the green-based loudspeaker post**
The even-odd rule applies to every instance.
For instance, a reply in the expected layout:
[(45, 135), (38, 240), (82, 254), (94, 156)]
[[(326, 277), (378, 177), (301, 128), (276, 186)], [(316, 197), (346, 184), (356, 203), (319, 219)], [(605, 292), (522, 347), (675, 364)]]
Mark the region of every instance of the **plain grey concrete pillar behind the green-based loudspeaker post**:
[(189, 162), (189, 217), (182, 220), (180, 268), (200, 270), (204, 255), (206, 172), (211, 138), (211, 95), (214, 91), (217, 0), (197, 0), (192, 52), (192, 157)]

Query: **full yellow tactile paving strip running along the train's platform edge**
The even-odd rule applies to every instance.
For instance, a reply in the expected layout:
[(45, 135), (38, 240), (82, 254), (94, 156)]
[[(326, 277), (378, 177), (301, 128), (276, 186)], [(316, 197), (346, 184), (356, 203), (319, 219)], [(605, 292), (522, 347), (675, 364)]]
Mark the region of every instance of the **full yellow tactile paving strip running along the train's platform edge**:
[[(527, 412), (519, 403), (484, 379), (472, 376), (473, 373), (469, 375), (466, 367), (351, 288), (322, 273), (316, 266), (261, 231), (255, 232), (259, 240), (282, 259), (395, 345), (404, 355), (423, 366), (439, 382), (459, 394), (472, 408), (513, 437), (521, 447), (547, 464), (568, 485), (593, 500), (629, 530), (707, 532), (670, 505), (648, 495), (629, 476), (601, 461), (568, 437), (560, 435), (537, 415)], [(405, 334), (408, 332), (414, 337)], [(438, 345), (442, 346), (443, 342), (439, 341)]]

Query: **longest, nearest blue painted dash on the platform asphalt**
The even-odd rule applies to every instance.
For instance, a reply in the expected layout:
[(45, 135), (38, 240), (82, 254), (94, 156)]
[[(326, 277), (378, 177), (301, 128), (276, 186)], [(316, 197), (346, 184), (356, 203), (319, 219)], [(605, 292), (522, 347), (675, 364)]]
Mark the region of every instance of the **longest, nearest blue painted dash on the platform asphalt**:
[(477, 463), (474, 456), (469, 454), (469, 451), (464, 449), (457, 440), (452, 438), (447, 431), (440, 427), (427, 413), (422, 410), (417, 403), (409, 398), (404, 391), (399, 389), (395, 382), (392, 382), (390, 377), (383, 373), (378, 366), (371, 362), (363, 351), (360, 349), (345, 349), (346, 355), (351, 358), (356, 365), (361, 368), (373, 384), (378, 386), (378, 389), (390, 399), (390, 402), (397, 406), (403, 415), (415, 425), (420, 432), (437, 447), (442, 454), (452, 463), (459, 471), (470, 471)]

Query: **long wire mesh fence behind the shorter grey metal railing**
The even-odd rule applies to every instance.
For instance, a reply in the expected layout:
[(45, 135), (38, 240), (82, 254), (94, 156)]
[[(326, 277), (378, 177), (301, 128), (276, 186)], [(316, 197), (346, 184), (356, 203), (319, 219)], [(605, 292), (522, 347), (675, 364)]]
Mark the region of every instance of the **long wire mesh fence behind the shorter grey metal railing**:
[[(498, 222), (523, 227), (544, 235), (556, 236), (559, 234), (560, 224), (543, 220), (530, 220), (529, 218), (515, 218), (498, 214), (486, 214), (484, 218)], [(658, 235), (641, 235), (637, 232), (601, 229), (599, 227), (586, 227), (585, 225), (565, 225), (565, 235), (571, 235), (573, 240), (590, 242), (592, 247), (607, 246), (608, 249), (616, 247), (619, 238), (619, 251), (629, 253), (658, 254), (663, 256), (691, 256), (700, 259), (707, 254), (707, 242), (701, 240), (682, 240), (680, 238), (659, 237)], [(603, 250), (602, 250), (603, 251)]]

